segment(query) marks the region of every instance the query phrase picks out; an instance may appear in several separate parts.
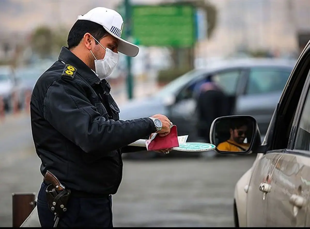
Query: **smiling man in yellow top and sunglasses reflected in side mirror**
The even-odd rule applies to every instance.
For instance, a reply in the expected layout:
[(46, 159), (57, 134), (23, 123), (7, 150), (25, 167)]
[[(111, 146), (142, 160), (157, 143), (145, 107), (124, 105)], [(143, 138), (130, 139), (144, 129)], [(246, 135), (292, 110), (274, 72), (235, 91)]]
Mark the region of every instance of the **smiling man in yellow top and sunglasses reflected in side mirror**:
[(248, 125), (245, 120), (236, 119), (229, 127), (230, 138), (219, 143), (217, 149), (220, 151), (242, 152), (248, 150), (250, 139), (247, 139)]

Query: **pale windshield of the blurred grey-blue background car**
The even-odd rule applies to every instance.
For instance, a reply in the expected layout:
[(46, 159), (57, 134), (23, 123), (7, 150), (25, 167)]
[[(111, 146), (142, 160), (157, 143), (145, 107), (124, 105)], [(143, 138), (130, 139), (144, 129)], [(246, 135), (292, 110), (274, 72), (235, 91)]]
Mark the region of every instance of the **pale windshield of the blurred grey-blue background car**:
[(194, 78), (200, 76), (204, 72), (206, 72), (206, 70), (203, 70), (203, 69), (194, 69), (192, 71), (189, 71), (185, 73), (184, 75), (168, 83), (161, 90), (159, 90), (156, 94), (157, 96), (160, 96), (160, 97), (165, 97), (167, 95), (175, 94), (184, 85), (186, 85), (188, 82), (190, 82)]

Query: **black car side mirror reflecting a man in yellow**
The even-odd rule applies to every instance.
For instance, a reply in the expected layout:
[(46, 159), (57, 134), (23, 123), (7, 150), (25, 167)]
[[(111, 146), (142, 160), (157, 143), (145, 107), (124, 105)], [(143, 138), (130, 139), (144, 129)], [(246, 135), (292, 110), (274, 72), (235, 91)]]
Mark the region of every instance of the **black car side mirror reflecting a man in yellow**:
[(248, 154), (261, 145), (257, 121), (250, 115), (216, 118), (210, 128), (210, 141), (222, 154)]

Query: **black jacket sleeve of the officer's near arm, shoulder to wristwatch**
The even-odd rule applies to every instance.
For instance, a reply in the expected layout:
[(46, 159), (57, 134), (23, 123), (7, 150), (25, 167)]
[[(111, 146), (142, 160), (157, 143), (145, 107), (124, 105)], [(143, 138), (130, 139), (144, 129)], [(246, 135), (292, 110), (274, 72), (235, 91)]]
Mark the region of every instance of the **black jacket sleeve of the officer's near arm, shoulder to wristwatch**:
[(113, 151), (155, 131), (149, 118), (106, 120), (74, 80), (54, 81), (43, 100), (43, 115), (86, 153)]

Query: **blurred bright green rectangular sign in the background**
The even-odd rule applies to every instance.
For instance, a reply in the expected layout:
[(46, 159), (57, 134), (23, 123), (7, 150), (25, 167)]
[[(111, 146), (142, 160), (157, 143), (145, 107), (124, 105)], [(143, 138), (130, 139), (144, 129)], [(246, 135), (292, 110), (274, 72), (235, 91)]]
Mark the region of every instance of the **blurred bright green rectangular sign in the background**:
[(132, 5), (132, 36), (143, 46), (191, 47), (196, 9), (190, 5)]

